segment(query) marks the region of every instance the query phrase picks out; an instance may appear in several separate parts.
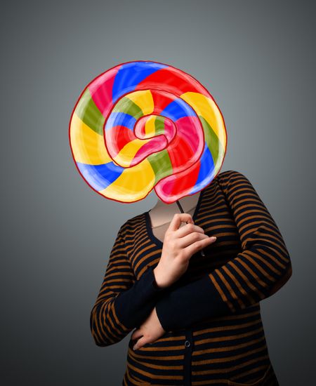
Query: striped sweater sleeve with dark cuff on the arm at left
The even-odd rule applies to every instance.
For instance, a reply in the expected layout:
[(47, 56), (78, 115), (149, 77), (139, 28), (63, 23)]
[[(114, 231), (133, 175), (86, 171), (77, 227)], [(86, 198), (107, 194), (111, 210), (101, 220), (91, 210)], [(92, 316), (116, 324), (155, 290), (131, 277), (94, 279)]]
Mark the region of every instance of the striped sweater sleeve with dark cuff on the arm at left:
[(90, 328), (96, 345), (113, 345), (147, 318), (165, 288), (157, 287), (153, 267), (136, 280), (119, 229), (103, 283), (91, 310)]

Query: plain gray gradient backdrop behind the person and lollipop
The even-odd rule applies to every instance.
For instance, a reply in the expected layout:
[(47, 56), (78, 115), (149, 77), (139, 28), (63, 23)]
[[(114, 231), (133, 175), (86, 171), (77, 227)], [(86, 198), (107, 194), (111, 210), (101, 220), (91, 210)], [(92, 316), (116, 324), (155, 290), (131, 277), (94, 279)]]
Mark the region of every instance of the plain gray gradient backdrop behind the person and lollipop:
[(270, 359), (281, 386), (315, 381), (314, 4), (2, 2), (1, 386), (121, 384), (130, 335), (97, 347), (90, 311), (120, 225), (157, 197), (93, 192), (68, 124), (84, 87), (131, 60), (183, 69), (218, 103), (221, 170), (251, 180), (291, 255), (291, 279), (261, 302)]

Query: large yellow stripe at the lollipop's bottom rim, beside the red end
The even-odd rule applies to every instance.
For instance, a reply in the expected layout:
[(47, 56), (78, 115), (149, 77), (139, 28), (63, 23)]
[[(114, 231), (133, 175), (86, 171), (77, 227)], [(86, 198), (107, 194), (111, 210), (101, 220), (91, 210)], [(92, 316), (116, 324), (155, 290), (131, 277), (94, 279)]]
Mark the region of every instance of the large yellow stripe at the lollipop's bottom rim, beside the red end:
[(147, 159), (140, 164), (127, 168), (111, 185), (103, 190), (108, 199), (134, 202), (143, 199), (154, 187), (154, 171)]

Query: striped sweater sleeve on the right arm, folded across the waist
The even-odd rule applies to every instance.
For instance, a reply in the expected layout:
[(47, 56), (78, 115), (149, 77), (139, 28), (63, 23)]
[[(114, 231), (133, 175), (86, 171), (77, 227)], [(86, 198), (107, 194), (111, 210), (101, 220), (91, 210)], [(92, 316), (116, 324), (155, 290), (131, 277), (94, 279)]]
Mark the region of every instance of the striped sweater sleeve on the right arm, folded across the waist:
[(242, 251), (157, 301), (157, 316), (165, 331), (243, 310), (277, 292), (291, 277), (291, 260), (282, 235), (251, 182), (237, 171), (225, 172), (221, 178)]

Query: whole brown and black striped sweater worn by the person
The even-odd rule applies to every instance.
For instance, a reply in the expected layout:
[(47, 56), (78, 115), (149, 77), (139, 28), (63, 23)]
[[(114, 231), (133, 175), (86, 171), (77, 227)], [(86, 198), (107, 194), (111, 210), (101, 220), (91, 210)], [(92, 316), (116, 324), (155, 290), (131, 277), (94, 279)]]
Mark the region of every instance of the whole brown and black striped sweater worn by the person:
[(200, 192), (192, 218), (216, 242), (164, 289), (154, 284), (162, 241), (149, 213), (120, 227), (91, 310), (96, 345), (119, 342), (156, 307), (166, 333), (136, 351), (129, 340), (121, 385), (278, 385), (260, 309), (291, 277), (277, 224), (238, 171), (219, 173)]

